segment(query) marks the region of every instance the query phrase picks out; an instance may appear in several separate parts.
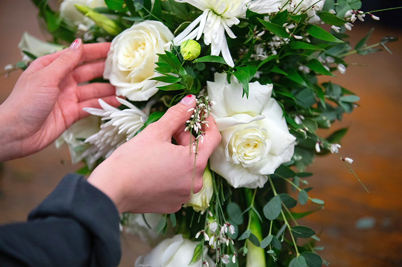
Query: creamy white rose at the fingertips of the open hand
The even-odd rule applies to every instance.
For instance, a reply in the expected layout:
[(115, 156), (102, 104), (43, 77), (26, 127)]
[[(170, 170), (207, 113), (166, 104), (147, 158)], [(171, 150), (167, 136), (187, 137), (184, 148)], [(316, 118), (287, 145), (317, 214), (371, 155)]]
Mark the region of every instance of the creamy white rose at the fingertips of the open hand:
[(174, 38), (161, 22), (144, 21), (133, 25), (113, 39), (105, 63), (104, 78), (116, 87), (116, 94), (132, 101), (148, 100), (165, 83), (149, 79), (158, 55), (168, 51)]

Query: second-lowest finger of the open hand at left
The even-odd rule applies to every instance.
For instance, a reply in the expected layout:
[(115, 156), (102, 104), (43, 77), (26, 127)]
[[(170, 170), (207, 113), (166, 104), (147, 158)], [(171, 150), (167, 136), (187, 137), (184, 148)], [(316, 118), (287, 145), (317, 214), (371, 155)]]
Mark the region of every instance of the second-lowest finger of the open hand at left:
[(116, 97), (116, 89), (110, 83), (90, 83), (78, 86), (77, 99), (78, 102), (90, 100), (92, 98), (98, 99), (107, 96)]

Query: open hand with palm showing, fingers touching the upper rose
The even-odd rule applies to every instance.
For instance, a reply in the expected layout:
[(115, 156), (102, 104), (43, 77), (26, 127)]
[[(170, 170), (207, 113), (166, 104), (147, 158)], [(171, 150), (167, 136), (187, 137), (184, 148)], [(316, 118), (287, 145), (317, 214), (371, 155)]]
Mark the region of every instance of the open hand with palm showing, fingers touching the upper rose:
[(82, 108), (98, 107), (99, 98), (119, 106), (111, 84), (78, 85), (102, 77), (109, 47), (77, 39), (70, 48), (32, 62), (0, 105), (0, 162), (45, 148), (88, 115)]

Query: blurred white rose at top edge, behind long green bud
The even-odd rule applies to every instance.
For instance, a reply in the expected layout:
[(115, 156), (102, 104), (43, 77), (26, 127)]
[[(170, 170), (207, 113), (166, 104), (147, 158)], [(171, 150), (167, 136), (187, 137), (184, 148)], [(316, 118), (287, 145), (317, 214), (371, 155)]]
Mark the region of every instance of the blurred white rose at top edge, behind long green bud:
[(60, 4), (60, 18), (64, 19), (67, 23), (78, 26), (84, 24), (92, 26), (94, 23), (81, 14), (74, 5), (87, 6), (91, 9), (107, 7), (105, 0), (64, 0)]

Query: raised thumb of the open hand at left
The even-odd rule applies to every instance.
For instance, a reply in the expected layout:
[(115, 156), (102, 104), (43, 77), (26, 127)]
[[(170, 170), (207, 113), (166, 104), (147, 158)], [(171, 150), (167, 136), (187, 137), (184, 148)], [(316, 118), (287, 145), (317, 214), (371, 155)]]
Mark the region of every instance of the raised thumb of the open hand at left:
[(52, 73), (57, 81), (61, 81), (69, 72), (71, 72), (79, 63), (83, 48), (81, 39), (75, 39), (70, 48), (61, 53), (46, 69)]

